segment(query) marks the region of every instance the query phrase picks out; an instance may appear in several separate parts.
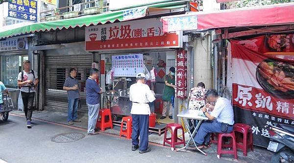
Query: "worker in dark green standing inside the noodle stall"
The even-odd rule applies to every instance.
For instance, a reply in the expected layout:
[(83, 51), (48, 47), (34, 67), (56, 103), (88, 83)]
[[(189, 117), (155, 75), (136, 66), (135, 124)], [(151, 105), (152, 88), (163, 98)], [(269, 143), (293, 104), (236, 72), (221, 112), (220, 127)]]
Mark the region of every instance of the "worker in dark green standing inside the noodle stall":
[[(166, 118), (167, 114), (169, 114), (170, 119), (172, 119), (173, 107), (172, 107), (172, 98), (174, 97), (174, 67), (170, 68), (170, 73), (165, 75), (164, 77), (164, 91), (162, 95), (163, 100), (163, 110), (162, 116), (160, 119)], [(168, 111), (169, 110), (169, 111)]]

